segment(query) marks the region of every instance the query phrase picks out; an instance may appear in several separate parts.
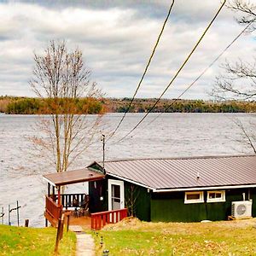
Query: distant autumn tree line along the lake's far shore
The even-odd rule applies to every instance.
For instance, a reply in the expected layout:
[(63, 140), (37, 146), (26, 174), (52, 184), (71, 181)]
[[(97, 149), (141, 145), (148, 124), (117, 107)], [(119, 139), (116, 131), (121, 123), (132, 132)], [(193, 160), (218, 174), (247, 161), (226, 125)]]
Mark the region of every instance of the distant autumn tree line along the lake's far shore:
[[(131, 99), (123, 98), (80, 98), (38, 99), (28, 97), (0, 96), (0, 112), (12, 114), (49, 114), (55, 113), (124, 113)], [(136, 99), (129, 112), (145, 113), (154, 104), (155, 99)], [(225, 101), (212, 102), (202, 100), (163, 99), (154, 113), (255, 113), (256, 102)]]

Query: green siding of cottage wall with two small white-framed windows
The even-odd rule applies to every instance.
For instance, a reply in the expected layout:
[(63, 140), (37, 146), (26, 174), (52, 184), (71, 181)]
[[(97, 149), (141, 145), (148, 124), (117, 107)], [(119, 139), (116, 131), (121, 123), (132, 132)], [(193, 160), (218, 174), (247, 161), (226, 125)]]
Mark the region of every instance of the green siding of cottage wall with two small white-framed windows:
[[(204, 203), (184, 204), (185, 192), (155, 193), (151, 200), (151, 221), (194, 222), (204, 219), (224, 220), (231, 215), (231, 202), (242, 201), (242, 193), (248, 189), (228, 189), (225, 202), (207, 203), (207, 191), (204, 192)], [(253, 217), (256, 215), (256, 190), (251, 189), (253, 199)]]

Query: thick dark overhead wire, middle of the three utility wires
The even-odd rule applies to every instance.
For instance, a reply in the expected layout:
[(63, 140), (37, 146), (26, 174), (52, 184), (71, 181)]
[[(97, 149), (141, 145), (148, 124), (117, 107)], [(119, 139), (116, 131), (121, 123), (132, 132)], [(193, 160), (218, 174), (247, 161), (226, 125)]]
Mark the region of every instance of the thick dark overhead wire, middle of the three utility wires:
[[(220, 13), (221, 9), (223, 9), (224, 4), (226, 3), (226, 0), (224, 0), (224, 3), (221, 4), (221, 6), (218, 9), (218, 12), (216, 13), (216, 15), (214, 15), (214, 17), (212, 18), (211, 22), (209, 23), (209, 25), (207, 26), (207, 28), (205, 29), (205, 31), (202, 33), (201, 38), (199, 38), (199, 40), (197, 41), (197, 43), (195, 44), (194, 48), (190, 51), (189, 55), (187, 56), (186, 60), (183, 61), (183, 64), (181, 67), (179, 67), (179, 69), (177, 70), (177, 73), (174, 75), (174, 77), (172, 78), (171, 82), (167, 85), (166, 89), (162, 92), (162, 94), (160, 95), (160, 97), (156, 100), (156, 102), (154, 102), (154, 105), (148, 110), (148, 112), (143, 116), (143, 119), (141, 119), (137, 125), (135, 125), (131, 131), (129, 131), (124, 137), (122, 137), (121, 139), (119, 139), (119, 141), (117, 141), (116, 143), (119, 143), (120, 141), (124, 140), (125, 137), (128, 137), (132, 131), (134, 131), (135, 129), (137, 129), (138, 125), (140, 125), (143, 120), (148, 116), (148, 113), (151, 113), (152, 110), (155, 108), (155, 106), (157, 105), (158, 102), (160, 102), (160, 99), (162, 98), (162, 96), (164, 96), (164, 94), (166, 93), (166, 90), (168, 90), (170, 88), (170, 86), (172, 85), (172, 82), (177, 78), (177, 75), (182, 71), (183, 67), (186, 65), (186, 63), (189, 61), (189, 58), (191, 55), (193, 55), (193, 53), (195, 52), (195, 49), (198, 47), (198, 45), (201, 43), (202, 38), (204, 38), (204, 36), (206, 35), (208, 29), (210, 28), (210, 26), (212, 26), (213, 21), (217, 18), (218, 14)], [(115, 143), (114, 143), (115, 144)]]

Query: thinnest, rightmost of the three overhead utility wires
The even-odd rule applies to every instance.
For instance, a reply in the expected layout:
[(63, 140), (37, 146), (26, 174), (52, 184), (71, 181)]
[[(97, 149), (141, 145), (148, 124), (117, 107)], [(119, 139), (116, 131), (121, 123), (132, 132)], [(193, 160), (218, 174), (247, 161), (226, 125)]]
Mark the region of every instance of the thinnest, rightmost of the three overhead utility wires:
[[(224, 53), (230, 48), (230, 46), (231, 46), (232, 44), (234, 44), (238, 38), (241, 37), (241, 35), (247, 30), (247, 28), (248, 28), (249, 26), (252, 25), (252, 23), (253, 23), (253, 20), (236, 36), (236, 38), (234, 38), (234, 39), (232, 40), (232, 42), (231, 42), (231, 43), (230, 43), (230, 44), (212, 61), (212, 63), (211, 63), (207, 68), (204, 69), (204, 71), (194, 80), (194, 82), (192, 82), (191, 84), (189, 84), (189, 86), (188, 86), (185, 90), (183, 90), (183, 92), (182, 92), (179, 96), (177, 96), (177, 98), (174, 99), (173, 102), (170, 103), (170, 104), (165, 108), (164, 112), (162, 112), (162, 113), (166, 113), (166, 111), (167, 111), (169, 108), (171, 108), (172, 105), (173, 105), (175, 102), (177, 102), (177, 100), (178, 100), (181, 96), (183, 96), (183, 94), (185, 94), (199, 79), (201, 79), (201, 77), (207, 72), (207, 70), (208, 70), (210, 67), (212, 67), (212, 66), (214, 65), (214, 63), (215, 63), (216, 61), (218, 61), (218, 59), (219, 59), (222, 55), (224, 55)], [(155, 119), (158, 119), (158, 118), (160, 117), (160, 115), (161, 115), (162, 113), (158, 114), (153, 120), (151, 120), (151, 121), (148, 123), (148, 125), (151, 125), (151, 124), (155, 121)]]

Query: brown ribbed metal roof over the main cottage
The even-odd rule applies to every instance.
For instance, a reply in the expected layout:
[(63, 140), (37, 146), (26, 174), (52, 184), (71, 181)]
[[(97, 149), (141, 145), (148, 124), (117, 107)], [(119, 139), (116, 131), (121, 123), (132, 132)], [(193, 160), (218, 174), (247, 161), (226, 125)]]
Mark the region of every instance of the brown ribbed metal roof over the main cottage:
[(256, 185), (256, 155), (115, 160), (105, 171), (151, 189)]

